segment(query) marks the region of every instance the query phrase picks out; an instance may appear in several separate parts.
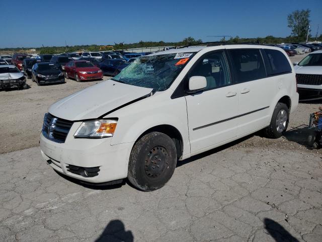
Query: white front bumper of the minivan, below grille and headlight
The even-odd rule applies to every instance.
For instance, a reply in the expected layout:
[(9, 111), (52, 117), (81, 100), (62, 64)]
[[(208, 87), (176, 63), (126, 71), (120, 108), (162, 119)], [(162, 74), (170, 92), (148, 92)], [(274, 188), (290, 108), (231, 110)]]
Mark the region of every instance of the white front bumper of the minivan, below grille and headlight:
[[(112, 138), (75, 139), (73, 134), (82, 122), (71, 127), (64, 143), (56, 143), (40, 135), (40, 149), (43, 158), (56, 171), (67, 176), (87, 181), (105, 183), (127, 177), (127, 168), (133, 143), (111, 145)], [(99, 167), (98, 175), (84, 177), (68, 171), (68, 166)]]

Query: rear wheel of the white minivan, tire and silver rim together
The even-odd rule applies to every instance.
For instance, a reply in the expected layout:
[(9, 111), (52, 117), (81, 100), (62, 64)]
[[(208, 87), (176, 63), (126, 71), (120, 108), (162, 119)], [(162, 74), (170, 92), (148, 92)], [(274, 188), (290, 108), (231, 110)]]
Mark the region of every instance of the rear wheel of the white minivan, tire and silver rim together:
[(287, 130), (289, 109), (285, 103), (278, 102), (274, 108), (271, 124), (265, 128), (264, 133), (268, 138), (278, 139)]

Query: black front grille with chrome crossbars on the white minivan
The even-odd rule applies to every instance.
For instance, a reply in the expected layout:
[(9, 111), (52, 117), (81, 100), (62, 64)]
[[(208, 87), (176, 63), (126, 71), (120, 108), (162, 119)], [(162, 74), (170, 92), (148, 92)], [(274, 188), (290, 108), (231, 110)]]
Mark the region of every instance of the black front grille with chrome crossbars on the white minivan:
[(73, 122), (46, 113), (42, 134), (49, 140), (64, 143)]

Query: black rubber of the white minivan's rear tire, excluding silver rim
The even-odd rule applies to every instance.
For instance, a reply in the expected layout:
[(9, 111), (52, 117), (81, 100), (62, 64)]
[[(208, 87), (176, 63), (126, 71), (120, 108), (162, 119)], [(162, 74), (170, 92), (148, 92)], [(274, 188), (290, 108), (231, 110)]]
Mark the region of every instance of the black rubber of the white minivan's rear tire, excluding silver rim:
[[(285, 128), (283, 130), (278, 130), (277, 125), (276, 125), (276, 123), (277, 123), (276, 118), (281, 110), (285, 111), (287, 119), (286, 119)], [(286, 104), (278, 102), (274, 108), (274, 112), (272, 115), (270, 125), (264, 129), (265, 136), (268, 138), (271, 138), (271, 139), (278, 139), (282, 135), (284, 135), (287, 130), (289, 115), (290, 115), (289, 110), (288, 110), (288, 107), (286, 106)]]

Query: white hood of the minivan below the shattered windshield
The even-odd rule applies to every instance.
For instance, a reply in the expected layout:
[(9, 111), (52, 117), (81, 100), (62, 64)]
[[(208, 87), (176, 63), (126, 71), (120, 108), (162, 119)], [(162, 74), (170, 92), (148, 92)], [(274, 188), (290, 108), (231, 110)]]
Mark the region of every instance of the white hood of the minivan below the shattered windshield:
[(149, 95), (151, 91), (151, 88), (107, 80), (55, 102), (49, 112), (71, 121), (98, 118), (121, 105)]

